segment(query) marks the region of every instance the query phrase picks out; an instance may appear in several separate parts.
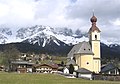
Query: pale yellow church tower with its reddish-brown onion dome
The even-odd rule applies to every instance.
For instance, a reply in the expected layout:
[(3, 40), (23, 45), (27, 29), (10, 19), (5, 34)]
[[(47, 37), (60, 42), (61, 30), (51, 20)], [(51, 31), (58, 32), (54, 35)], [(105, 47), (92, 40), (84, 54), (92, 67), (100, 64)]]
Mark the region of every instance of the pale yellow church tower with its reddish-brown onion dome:
[(100, 57), (100, 30), (96, 26), (97, 18), (92, 16), (90, 19), (92, 26), (89, 30), (89, 42), (91, 44), (93, 55), (93, 71), (99, 73), (101, 70), (101, 57)]

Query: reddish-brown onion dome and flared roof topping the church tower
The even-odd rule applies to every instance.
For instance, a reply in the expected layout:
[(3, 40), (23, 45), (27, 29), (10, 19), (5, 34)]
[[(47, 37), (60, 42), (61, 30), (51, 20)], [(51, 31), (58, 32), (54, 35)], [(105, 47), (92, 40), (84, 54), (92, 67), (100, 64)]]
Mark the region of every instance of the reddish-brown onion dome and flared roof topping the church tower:
[(97, 18), (95, 17), (94, 12), (93, 12), (93, 16), (91, 17), (90, 21), (92, 23), (92, 26), (89, 30), (89, 33), (94, 32), (95, 30), (100, 32), (99, 28), (96, 26)]

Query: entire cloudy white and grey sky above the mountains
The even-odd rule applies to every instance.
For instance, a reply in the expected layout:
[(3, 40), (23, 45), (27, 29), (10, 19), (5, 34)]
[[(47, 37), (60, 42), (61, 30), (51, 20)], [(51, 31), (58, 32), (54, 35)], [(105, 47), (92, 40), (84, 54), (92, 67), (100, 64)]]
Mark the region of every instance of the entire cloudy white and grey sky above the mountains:
[(88, 31), (93, 9), (102, 38), (120, 41), (120, 0), (0, 0), (0, 27), (46, 25)]

